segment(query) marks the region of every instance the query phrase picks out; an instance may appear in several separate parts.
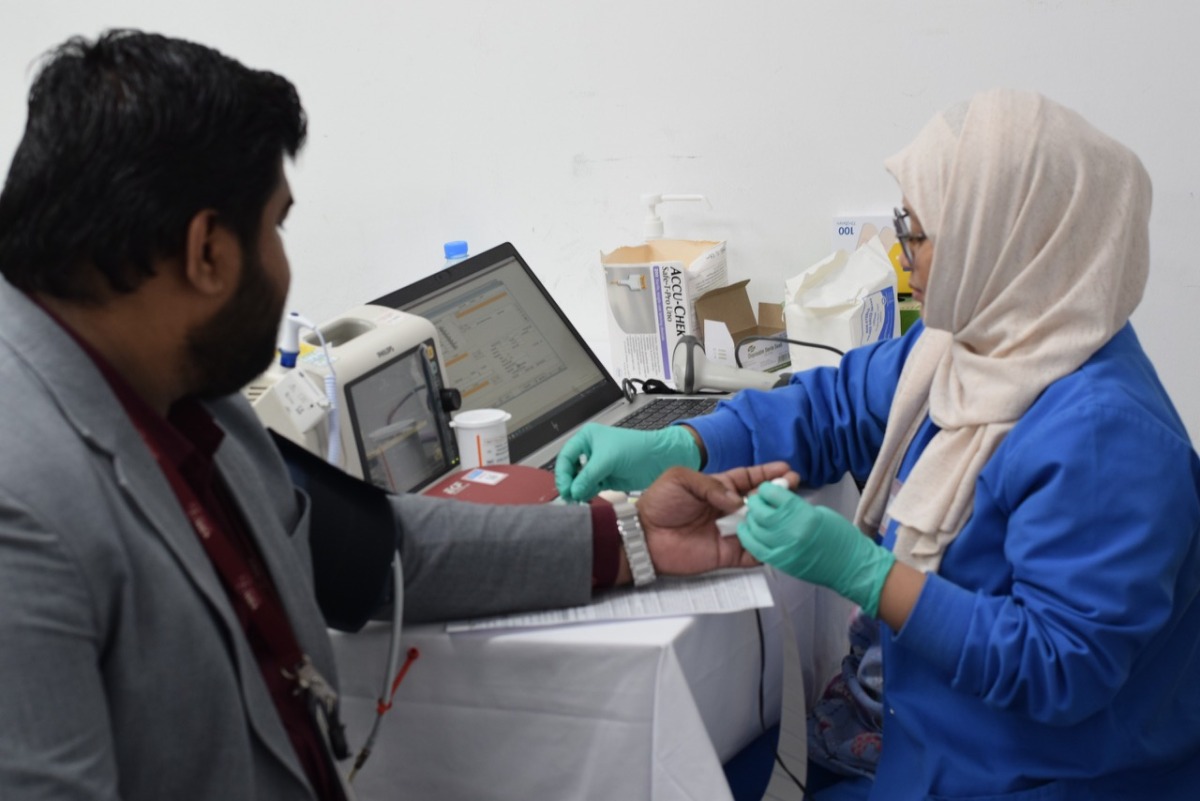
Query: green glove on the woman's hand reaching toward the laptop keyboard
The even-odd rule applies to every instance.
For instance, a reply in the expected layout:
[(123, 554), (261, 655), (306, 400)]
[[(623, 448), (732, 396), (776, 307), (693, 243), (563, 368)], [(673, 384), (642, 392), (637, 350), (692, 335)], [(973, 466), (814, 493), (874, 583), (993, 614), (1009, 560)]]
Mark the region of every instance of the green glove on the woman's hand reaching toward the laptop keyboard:
[(558, 452), (554, 483), (563, 500), (586, 501), (601, 489), (646, 489), (677, 464), (700, 469), (700, 446), (682, 426), (640, 432), (588, 423)]

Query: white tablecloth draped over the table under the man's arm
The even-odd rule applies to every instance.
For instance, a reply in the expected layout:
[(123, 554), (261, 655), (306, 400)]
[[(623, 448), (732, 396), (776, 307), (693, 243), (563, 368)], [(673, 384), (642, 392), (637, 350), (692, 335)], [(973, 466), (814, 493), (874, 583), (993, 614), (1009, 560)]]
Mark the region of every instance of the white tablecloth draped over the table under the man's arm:
[[(850, 606), (773, 576), (811, 701), (845, 654)], [(779, 719), (780, 610), (446, 634), (420, 649), (355, 789), (364, 801), (724, 801), (722, 763)], [(366, 736), (390, 628), (335, 634), (352, 748)]]

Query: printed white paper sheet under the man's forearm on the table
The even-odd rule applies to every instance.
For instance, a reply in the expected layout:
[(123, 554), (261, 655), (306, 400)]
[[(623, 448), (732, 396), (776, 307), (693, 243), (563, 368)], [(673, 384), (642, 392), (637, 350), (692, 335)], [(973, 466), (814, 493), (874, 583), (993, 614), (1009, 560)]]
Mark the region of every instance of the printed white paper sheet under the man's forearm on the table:
[(446, 624), (446, 631), (560, 626), (563, 624), (674, 615), (720, 614), (774, 606), (763, 568), (731, 570), (696, 577), (664, 577), (646, 589), (612, 589), (583, 607)]

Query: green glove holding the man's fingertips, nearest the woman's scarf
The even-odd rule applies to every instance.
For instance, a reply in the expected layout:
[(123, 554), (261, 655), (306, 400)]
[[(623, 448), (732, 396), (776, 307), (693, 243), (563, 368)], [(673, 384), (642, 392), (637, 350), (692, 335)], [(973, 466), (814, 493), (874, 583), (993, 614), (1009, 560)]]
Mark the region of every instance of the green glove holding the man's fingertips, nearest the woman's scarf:
[(742, 547), (788, 576), (828, 586), (875, 618), (895, 556), (824, 506), (767, 482), (746, 498)]

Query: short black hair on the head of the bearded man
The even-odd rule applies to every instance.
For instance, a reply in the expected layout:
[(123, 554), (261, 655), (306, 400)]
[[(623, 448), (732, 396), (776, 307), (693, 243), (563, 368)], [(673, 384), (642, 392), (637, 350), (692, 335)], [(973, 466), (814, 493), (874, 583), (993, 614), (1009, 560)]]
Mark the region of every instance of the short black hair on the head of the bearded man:
[(290, 83), (210, 48), (128, 31), (72, 38), (29, 95), (0, 198), (4, 275), (70, 300), (131, 291), (182, 251), (197, 209), (218, 209), (252, 252), (280, 157), (295, 156), (305, 127)]

